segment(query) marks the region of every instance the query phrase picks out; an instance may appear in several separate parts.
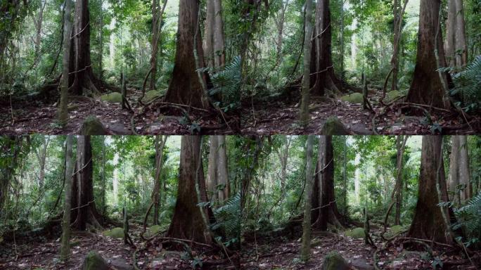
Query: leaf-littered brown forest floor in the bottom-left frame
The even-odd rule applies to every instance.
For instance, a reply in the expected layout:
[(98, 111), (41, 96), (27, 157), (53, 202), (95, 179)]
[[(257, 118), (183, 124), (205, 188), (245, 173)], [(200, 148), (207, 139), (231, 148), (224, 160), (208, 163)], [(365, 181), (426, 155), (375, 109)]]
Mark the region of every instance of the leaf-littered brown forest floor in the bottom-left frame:
[[(138, 269), (193, 269), (195, 259), (185, 251), (184, 245), (168, 243), (160, 236), (141, 240), (141, 229), (133, 226), (130, 234), (136, 248), (124, 244), (122, 238), (110, 238), (98, 233), (73, 232), (70, 243), (71, 257), (68, 263), (60, 262), (60, 234), (53, 236), (27, 236), (12, 242), (0, 243), (0, 269), (81, 269), (88, 252), (96, 250), (108, 262), (110, 270), (134, 270), (134, 252)], [(186, 242), (188, 243), (188, 241)], [(217, 249), (206, 246), (189, 247), (191, 256), (202, 259), (202, 269), (236, 269), (236, 256), (222, 259)], [(188, 246), (188, 245), (186, 245)], [(238, 256), (237, 256), (238, 257)]]

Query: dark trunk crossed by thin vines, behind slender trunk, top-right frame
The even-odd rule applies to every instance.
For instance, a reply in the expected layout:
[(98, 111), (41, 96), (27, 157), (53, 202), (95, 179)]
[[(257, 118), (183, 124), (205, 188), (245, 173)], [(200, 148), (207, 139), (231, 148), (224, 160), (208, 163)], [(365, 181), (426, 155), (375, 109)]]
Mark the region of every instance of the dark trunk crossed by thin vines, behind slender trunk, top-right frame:
[(334, 75), (332, 60), (332, 27), (329, 0), (317, 1), (310, 66), (312, 94), (318, 96), (339, 91), (335, 86), (338, 79)]

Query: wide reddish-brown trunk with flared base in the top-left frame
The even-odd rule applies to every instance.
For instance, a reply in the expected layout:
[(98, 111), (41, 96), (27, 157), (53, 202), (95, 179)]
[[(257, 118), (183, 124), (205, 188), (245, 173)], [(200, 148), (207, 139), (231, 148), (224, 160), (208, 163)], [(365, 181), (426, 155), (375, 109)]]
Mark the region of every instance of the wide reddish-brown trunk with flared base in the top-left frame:
[(209, 108), (208, 97), (201, 82), (204, 78), (196, 71), (204, 66), (198, 11), (197, 0), (180, 0), (174, 71), (165, 94), (165, 101), (196, 108)]

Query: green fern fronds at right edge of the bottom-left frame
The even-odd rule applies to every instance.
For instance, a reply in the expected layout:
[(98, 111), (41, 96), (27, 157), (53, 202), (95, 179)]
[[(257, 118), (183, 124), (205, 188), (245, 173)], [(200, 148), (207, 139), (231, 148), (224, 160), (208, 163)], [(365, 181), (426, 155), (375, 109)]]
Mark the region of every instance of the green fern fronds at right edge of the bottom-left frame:
[(236, 237), (241, 230), (241, 193), (237, 193), (224, 205), (214, 209), (216, 221), (210, 224), (210, 229), (222, 229), (227, 238)]

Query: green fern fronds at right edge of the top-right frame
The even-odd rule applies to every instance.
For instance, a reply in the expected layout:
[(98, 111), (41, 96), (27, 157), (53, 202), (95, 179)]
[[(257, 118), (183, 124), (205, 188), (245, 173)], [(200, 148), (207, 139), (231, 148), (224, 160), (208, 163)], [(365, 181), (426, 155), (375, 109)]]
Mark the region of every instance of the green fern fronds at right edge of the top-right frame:
[(451, 95), (459, 95), (464, 102), (466, 111), (481, 109), (481, 56), (476, 56), (473, 63), (461, 72), (453, 75), (455, 87)]

